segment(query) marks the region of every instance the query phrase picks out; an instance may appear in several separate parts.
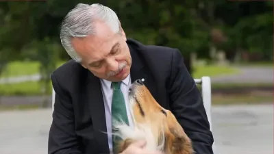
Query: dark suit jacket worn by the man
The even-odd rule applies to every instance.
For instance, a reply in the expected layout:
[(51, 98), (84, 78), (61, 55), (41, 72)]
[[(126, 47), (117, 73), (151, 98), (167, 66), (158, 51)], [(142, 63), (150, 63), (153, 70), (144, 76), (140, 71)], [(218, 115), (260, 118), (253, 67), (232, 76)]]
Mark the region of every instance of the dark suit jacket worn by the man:
[[(213, 137), (201, 94), (177, 49), (145, 46), (128, 39), (131, 77), (145, 85), (162, 107), (171, 110), (199, 154), (211, 154)], [(49, 154), (109, 153), (99, 79), (69, 61), (51, 75), (56, 92)]]

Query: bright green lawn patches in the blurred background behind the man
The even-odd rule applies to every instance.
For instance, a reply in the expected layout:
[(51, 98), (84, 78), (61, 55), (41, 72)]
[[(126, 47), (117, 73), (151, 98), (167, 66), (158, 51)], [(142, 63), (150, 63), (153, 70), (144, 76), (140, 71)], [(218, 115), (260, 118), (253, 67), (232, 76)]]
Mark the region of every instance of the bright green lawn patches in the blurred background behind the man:
[[(62, 62), (59, 63), (59, 65)], [(38, 73), (39, 64), (36, 62), (13, 62), (8, 66), (9, 73), (3, 74), (2, 77), (15, 77), (19, 75), (34, 75)], [(202, 76), (214, 77), (217, 75), (228, 75), (238, 73), (236, 68), (229, 66), (196, 66), (193, 77)], [(38, 81), (27, 81), (18, 84), (0, 84), (0, 95), (39, 95), (41, 87)]]

